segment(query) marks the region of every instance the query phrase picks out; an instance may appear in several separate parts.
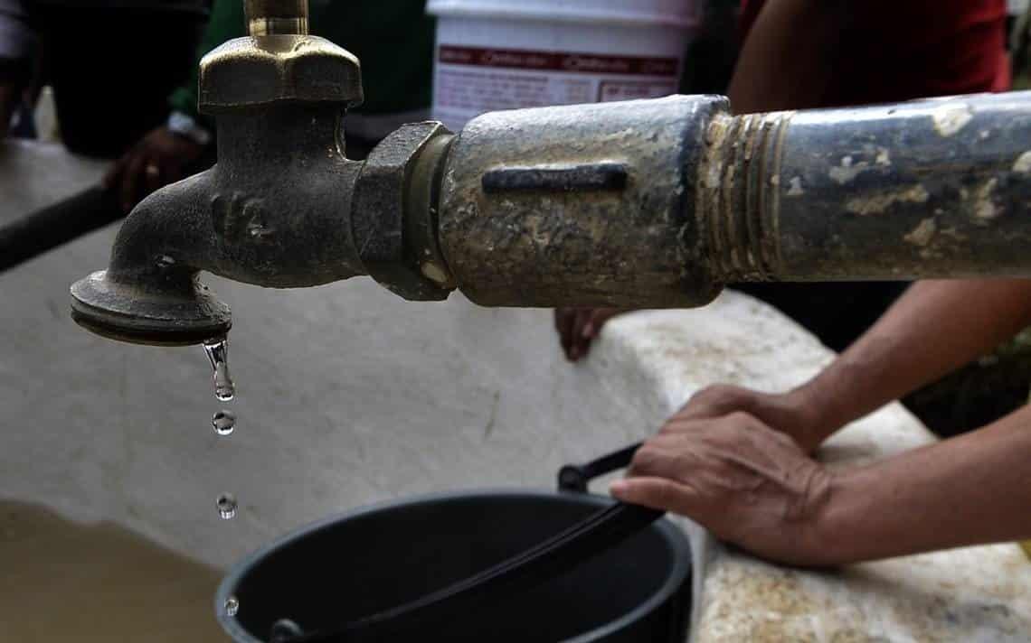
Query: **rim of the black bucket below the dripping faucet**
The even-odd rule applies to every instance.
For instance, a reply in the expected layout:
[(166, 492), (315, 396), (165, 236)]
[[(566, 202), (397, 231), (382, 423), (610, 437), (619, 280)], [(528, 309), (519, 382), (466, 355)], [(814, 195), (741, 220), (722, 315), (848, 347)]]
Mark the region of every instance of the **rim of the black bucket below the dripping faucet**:
[[(418, 506), (422, 504), (431, 504), (440, 502), (442, 500), (461, 500), (464, 498), (484, 498), (484, 497), (498, 497), (498, 498), (538, 498), (538, 499), (548, 499), (555, 500), (559, 498), (571, 498), (575, 500), (581, 500), (587, 503), (594, 504), (597, 507), (604, 507), (606, 505), (612, 504), (616, 501), (609, 496), (602, 496), (599, 494), (577, 494), (570, 492), (559, 492), (552, 489), (543, 488), (487, 488), (487, 489), (469, 489), (469, 490), (458, 490), (450, 492), (438, 492), (418, 496), (407, 496), (400, 499), (384, 500), (368, 505), (362, 505), (355, 509), (347, 511), (342, 511), (327, 517), (320, 519), (303, 525), (289, 533), (272, 540), (270, 543), (259, 547), (255, 551), (246, 555), (239, 561), (237, 561), (226, 574), (223, 576), (222, 581), (219, 583), (218, 590), (214, 593), (214, 615), (219, 624), (234, 641), (237, 643), (264, 643), (261, 639), (255, 638), (247, 632), (243, 626), (241, 626), (235, 616), (229, 616), (226, 614), (225, 604), (226, 600), (232, 596), (231, 588), (236, 586), (240, 581), (245, 570), (250, 569), (257, 561), (268, 556), (275, 549), (284, 547), (296, 540), (299, 540), (308, 534), (323, 530), (331, 525), (340, 523), (343, 521), (355, 520), (368, 515), (370, 513), (377, 513), (386, 509), (396, 509), (406, 506)], [(591, 632), (585, 633), (583, 635), (576, 636), (571, 639), (565, 639), (560, 643), (587, 643), (593, 641), (599, 637), (606, 636), (620, 629), (626, 627), (630, 622), (640, 619), (643, 615), (648, 614), (656, 609), (660, 608), (667, 601), (675, 600), (677, 597), (677, 592), (680, 587), (687, 583), (692, 574), (693, 567), (693, 557), (691, 548), (691, 540), (688, 538), (687, 534), (684, 533), (681, 529), (676, 527), (667, 516), (664, 516), (652, 525), (650, 525), (647, 530), (657, 530), (670, 545), (670, 550), (672, 552), (672, 562), (669, 566), (669, 573), (666, 575), (663, 583), (658, 586), (647, 600), (643, 601), (640, 605), (635, 607), (633, 610), (623, 614), (619, 618), (608, 621), (598, 628), (595, 628)], [(243, 607), (243, 606), (241, 606)], [(245, 609), (245, 607), (243, 607)]]

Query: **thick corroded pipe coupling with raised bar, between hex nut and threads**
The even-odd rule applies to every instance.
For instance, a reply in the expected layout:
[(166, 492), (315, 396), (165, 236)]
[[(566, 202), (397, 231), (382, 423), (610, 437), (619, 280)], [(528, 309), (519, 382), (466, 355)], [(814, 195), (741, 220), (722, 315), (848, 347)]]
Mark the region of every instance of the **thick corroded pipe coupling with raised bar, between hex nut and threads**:
[(470, 121), (440, 203), (459, 288), (485, 306), (706, 303), (718, 287), (691, 212), (706, 126), (727, 110), (673, 97)]

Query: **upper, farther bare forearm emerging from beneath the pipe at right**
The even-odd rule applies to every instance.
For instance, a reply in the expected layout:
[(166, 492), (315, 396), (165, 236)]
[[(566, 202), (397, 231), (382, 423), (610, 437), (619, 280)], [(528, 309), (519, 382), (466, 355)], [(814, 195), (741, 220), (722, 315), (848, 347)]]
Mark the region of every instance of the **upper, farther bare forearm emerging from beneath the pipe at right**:
[(1031, 324), (1031, 281), (919, 282), (814, 379), (793, 391), (819, 444), (841, 426), (992, 351)]

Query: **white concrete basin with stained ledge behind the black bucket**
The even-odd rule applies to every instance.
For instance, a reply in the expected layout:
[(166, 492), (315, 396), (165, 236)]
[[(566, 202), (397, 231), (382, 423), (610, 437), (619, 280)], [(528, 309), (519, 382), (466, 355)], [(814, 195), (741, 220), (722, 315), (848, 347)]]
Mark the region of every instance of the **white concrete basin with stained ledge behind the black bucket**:
[[(51, 148), (8, 145), (0, 224), (98, 173)], [(68, 285), (106, 264), (113, 233), (0, 275), (0, 495), (112, 521), (220, 567), (357, 505), (550, 488), (560, 465), (648, 435), (702, 386), (780, 389), (831, 357), (734, 293), (698, 311), (621, 318), (574, 366), (547, 311), (480, 309), (458, 295), (409, 303), (367, 279), (271, 291), (208, 278), (234, 315), (238, 396), (225, 405), (238, 425), (220, 438), (209, 421), (224, 404), (199, 348), (117, 344), (68, 318)], [(824, 456), (875, 458), (930, 439), (893, 405)], [(214, 508), (225, 491), (240, 503), (229, 522)], [(1031, 636), (1031, 564), (1013, 545), (817, 574), (724, 551), (689, 530), (697, 640)]]

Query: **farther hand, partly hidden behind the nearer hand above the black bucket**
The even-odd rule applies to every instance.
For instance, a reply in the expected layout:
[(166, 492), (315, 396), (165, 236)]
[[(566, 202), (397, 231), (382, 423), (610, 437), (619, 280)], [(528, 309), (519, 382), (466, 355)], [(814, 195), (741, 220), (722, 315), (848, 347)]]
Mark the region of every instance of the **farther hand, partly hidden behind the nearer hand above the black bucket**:
[(716, 420), (733, 413), (746, 413), (790, 435), (805, 453), (816, 451), (837, 428), (825, 418), (823, 408), (805, 388), (788, 393), (760, 393), (739, 386), (718, 384), (695, 393), (670, 418), (663, 431), (676, 431), (694, 420)]

